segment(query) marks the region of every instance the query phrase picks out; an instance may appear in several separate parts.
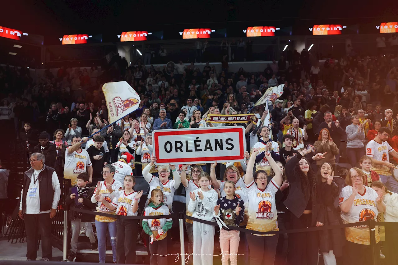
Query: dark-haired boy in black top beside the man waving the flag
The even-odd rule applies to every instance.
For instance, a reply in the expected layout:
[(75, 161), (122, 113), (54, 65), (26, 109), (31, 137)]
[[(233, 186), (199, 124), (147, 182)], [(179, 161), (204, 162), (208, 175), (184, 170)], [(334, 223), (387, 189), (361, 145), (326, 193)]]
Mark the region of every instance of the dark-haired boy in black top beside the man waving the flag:
[(88, 155), (93, 164), (93, 182), (91, 185), (94, 187), (98, 181), (103, 181), (101, 171), (105, 163), (108, 164), (109, 162), (110, 152), (105, 153), (105, 149), (102, 146), (103, 142), (105, 142), (105, 138), (97, 135), (94, 137), (94, 145), (87, 148)]

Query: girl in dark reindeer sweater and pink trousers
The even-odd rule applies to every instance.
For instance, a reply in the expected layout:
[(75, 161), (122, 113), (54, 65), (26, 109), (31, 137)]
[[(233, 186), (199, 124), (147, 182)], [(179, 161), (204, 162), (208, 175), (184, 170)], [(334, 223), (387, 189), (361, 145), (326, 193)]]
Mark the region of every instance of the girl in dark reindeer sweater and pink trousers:
[(221, 247), (221, 264), (228, 265), (228, 257), (231, 265), (238, 264), (238, 248), (239, 248), (239, 231), (230, 230), (227, 226), (236, 226), (243, 221), (245, 207), (243, 200), (235, 194), (235, 183), (233, 181), (225, 181), (224, 192), (225, 197), (217, 201), (214, 207), (214, 216), (220, 226), (220, 247)]

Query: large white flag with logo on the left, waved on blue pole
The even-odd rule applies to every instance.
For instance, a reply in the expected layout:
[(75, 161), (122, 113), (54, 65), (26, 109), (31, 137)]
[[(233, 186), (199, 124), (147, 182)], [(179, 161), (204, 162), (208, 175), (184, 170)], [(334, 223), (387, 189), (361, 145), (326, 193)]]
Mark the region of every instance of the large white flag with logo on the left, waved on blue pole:
[(129, 115), (140, 105), (140, 96), (126, 81), (105, 83), (102, 92), (108, 107), (109, 123)]

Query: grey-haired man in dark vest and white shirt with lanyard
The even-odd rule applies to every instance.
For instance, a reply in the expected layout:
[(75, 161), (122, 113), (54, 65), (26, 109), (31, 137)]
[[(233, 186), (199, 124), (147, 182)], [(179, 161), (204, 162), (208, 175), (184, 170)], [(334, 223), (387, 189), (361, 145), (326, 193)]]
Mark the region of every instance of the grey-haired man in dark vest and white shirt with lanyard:
[(30, 158), (31, 169), (23, 174), (20, 211), (25, 221), (27, 253), (26, 260), (36, 260), (38, 231), (41, 234), (43, 261), (51, 260), (51, 218), (57, 211), (61, 189), (57, 173), (46, 166), (45, 156), (34, 153)]

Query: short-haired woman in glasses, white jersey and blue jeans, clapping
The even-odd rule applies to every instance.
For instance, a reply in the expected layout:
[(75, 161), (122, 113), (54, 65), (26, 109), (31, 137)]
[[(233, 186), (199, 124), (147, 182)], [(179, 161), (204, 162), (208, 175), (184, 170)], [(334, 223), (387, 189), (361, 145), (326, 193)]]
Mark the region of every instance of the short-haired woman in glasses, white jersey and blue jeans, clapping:
[[(113, 179), (113, 176), (115, 175), (115, 167), (112, 165), (105, 165), (101, 173), (104, 181), (98, 181), (97, 187), (94, 191), (94, 196), (91, 197), (91, 202), (97, 203), (97, 212), (116, 215), (116, 208), (110, 210), (103, 203), (97, 201), (96, 198), (101, 195), (105, 201), (111, 203), (113, 198), (115, 198), (117, 191), (121, 191), (123, 189), (122, 183)], [(109, 236), (111, 238), (113, 263), (116, 263), (116, 218), (96, 215), (96, 230), (100, 263), (105, 263), (106, 230), (109, 231)]]

